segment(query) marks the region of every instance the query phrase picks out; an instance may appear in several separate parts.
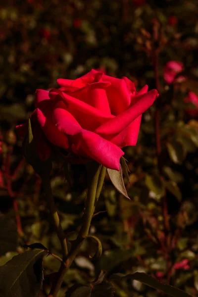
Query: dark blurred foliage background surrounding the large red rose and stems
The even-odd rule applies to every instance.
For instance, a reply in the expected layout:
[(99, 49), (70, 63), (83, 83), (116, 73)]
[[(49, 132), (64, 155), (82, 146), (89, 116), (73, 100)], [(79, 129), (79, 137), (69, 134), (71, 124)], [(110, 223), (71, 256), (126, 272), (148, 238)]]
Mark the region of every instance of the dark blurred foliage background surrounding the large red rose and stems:
[[(122, 274), (146, 272), (198, 295), (198, 116), (185, 103), (198, 95), (197, 0), (7, 0), (0, 4), (0, 265), (40, 242), (60, 255), (39, 177), (22, 156), (15, 125), (34, 110), (36, 89), (56, 87), (91, 68), (127, 76), (139, 90), (156, 88), (153, 49), (158, 49), (161, 99), (143, 115), (136, 147), (124, 148), (130, 170), (127, 200), (106, 176), (90, 233), (103, 252), (91, 259), (87, 241), (65, 277), (59, 297), (73, 284), (120, 273), (116, 297), (158, 297)], [(153, 39), (153, 24), (158, 30)], [(156, 45), (157, 43), (157, 45)], [(167, 85), (164, 65), (183, 63), (185, 80)], [(187, 108), (188, 107), (188, 108)], [(159, 111), (160, 154), (156, 151)], [(68, 239), (75, 238), (86, 198), (84, 165), (54, 164), (51, 186)], [(68, 175), (67, 175), (68, 176)], [(17, 226), (17, 227), (16, 227)], [(18, 231), (18, 232), (17, 232)], [(44, 260), (48, 292), (59, 262)]]

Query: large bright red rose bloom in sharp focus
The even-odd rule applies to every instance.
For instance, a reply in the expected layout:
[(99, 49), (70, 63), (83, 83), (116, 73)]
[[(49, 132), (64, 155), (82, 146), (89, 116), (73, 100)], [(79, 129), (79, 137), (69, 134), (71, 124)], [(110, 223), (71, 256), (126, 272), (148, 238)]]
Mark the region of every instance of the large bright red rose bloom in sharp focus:
[[(31, 126), (42, 160), (50, 143), (81, 160), (94, 159), (119, 170), (121, 148), (135, 146), (142, 113), (158, 97), (148, 86), (137, 92), (128, 78), (114, 78), (92, 69), (76, 79), (58, 79), (59, 89), (37, 90)], [(28, 124), (17, 126), (24, 137)]]

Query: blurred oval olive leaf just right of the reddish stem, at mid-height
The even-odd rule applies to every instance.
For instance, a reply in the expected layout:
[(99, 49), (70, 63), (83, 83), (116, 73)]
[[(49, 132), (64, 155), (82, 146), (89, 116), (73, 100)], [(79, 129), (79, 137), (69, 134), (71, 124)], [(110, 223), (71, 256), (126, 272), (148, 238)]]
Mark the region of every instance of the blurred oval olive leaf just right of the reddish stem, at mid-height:
[(182, 164), (186, 158), (186, 148), (179, 142), (167, 143), (166, 146), (171, 160), (176, 164)]

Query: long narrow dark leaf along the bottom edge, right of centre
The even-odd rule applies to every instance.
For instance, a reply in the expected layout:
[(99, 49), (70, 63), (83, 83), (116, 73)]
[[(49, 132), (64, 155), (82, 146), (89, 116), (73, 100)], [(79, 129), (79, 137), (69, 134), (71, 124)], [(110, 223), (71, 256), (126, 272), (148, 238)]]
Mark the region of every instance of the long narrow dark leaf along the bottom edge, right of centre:
[(127, 275), (123, 278), (139, 281), (151, 288), (159, 290), (164, 294), (168, 294), (169, 296), (172, 296), (172, 297), (192, 297), (191, 295), (187, 294), (186, 292), (180, 289), (158, 282), (157, 280), (147, 275), (146, 273), (136, 272), (134, 274)]

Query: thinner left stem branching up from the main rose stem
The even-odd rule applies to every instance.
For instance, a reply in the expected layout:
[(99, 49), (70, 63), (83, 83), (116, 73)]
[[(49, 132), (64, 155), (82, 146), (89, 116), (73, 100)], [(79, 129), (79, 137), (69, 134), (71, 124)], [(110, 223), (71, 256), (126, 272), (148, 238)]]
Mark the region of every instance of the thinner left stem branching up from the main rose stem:
[(56, 209), (54, 199), (52, 196), (49, 176), (42, 177), (42, 181), (43, 181), (44, 191), (46, 194), (46, 199), (47, 199), (48, 206), (49, 206), (49, 212), (51, 215), (51, 219), (52, 219), (53, 225), (55, 226), (57, 237), (61, 244), (62, 260), (63, 260), (63, 262), (65, 262), (66, 258), (67, 258), (67, 254), (68, 254), (67, 242), (66, 242), (65, 234), (62, 230), (62, 226), (60, 224), (59, 216), (58, 216), (57, 209)]

